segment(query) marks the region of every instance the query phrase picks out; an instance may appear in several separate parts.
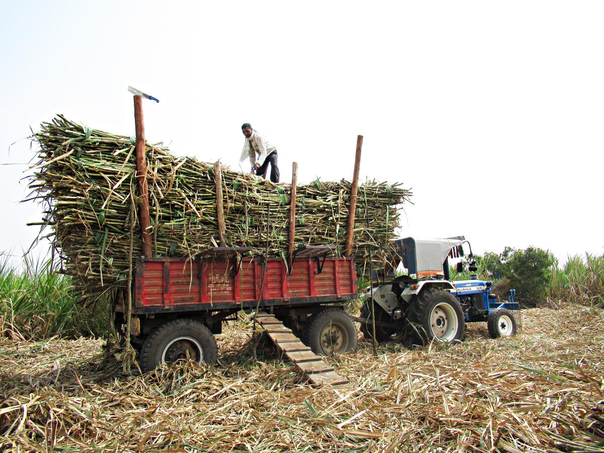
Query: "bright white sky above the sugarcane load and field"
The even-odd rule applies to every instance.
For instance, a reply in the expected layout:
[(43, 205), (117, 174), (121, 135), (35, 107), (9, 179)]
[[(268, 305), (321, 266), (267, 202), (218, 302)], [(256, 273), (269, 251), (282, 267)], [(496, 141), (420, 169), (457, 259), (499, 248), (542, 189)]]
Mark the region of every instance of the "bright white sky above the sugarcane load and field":
[(413, 188), (402, 236), (602, 254), (603, 22), (597, 1), (2, 2), (0, 251), (42, 216), (18, 140), (56, 113), (134, 135), (132, 85), (176, 155), (238, 169), (249, 122), (281, 181), (351, 179), (361, 134), (361, 178)]

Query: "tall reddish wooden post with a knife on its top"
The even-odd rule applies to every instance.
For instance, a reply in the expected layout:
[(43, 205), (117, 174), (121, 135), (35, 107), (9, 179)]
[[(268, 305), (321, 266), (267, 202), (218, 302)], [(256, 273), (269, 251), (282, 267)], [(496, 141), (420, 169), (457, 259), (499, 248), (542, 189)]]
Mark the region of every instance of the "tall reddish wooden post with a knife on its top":
[(143, 98), (134, 96), (134, 124), (137, 130), (137, 182), (140, 201), (139, 222), (143, 236), (143, 254), (152, 257), (151, 219), (149, 217), (149, 186), (147, 185), (147, 158), (145, 149), (145, 127), (143, 123)]

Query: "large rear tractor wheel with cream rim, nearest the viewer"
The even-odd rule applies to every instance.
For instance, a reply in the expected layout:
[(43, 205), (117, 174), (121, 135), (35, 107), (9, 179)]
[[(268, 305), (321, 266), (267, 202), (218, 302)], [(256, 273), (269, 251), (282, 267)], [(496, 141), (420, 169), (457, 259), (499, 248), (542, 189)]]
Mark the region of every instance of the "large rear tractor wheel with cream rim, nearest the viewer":
[(443, 289), (424, 289), (412, 302), (408, 320), (422, 344), (432, 340), (448, 343), (463, 340), (465, 322), (461, 306)]

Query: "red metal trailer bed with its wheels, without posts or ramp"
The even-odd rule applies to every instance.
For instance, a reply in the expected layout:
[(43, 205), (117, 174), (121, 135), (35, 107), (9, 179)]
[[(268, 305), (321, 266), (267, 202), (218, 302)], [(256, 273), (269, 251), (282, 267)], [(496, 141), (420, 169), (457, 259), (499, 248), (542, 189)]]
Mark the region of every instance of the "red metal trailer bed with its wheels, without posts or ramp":
[[(194, 259), (137, 260), (130, 341), (143, 371), (187, 357), (215, 362), (213, 334), (222, 332), (223, 321), (236, 320), (240, 310), (254, 312), (257, 306), (273, 315), (273, 324), (280, 321), (301, 335), (314, 353), (355, 348), (356, 326), (344, 310), (358, 294), (351, 257), (327, 257), (332, 247), (307, 246), (295, 253), (289, 268), (282, 259), (242, 257), (249, 251), (216, 247)], [(126, 312), (126, 302), (118, 303), (115, 323), (123, 335)]]

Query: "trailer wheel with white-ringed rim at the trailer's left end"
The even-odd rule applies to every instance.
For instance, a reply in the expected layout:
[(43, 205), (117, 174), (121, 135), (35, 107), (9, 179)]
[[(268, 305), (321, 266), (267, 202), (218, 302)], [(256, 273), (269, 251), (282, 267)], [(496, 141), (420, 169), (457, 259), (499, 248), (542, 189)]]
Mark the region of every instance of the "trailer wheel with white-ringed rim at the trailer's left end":
[(213, 364), (218, 358), (218, 345), (204, 324), (181, 318), (162, 324), (147, 337), (140, 353), (141, 370), (146, 373), (159, 364), (187, 358)]

